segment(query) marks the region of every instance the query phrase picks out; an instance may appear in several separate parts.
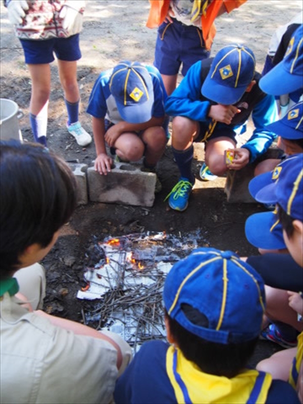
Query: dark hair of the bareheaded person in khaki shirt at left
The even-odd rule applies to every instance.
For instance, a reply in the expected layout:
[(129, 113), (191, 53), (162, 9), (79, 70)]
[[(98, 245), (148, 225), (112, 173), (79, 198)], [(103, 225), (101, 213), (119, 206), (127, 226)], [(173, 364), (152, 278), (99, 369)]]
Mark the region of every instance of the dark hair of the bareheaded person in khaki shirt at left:
[(76, 180), (69, 166), (37, 143), (0, 143), (1, 273), (20, 265), (25, 248), (46, 247), (72, 215)]

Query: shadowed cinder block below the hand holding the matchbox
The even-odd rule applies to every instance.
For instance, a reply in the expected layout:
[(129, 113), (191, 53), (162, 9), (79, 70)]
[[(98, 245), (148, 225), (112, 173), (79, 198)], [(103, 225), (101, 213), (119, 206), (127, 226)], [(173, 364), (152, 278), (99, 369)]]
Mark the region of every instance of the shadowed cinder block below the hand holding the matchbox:
[(238, 171), (229, 170), (227, 172), (224, 188), (227, 195), (227, 201), (229, 203), (257, 203), (249, 193), (248, 183), (254, 178), (254, 170), (258, 163), (266, 159), (278, 159), (280, 153), (281, 150), (279, 148), (271, 147), (254, 163), (248, 164), (246, 167)]

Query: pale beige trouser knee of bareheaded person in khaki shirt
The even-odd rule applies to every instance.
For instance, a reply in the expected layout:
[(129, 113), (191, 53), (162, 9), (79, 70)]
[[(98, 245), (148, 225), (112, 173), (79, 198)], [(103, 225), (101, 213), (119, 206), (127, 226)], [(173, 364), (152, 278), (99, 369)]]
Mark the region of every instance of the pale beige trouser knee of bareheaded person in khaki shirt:
[(30, 302), (32, 309), (42, 309), (46, 287), (45, 270), (42, 265), (33, 264), (19, 269), (14, 277), (18, 281), (19, 292)]

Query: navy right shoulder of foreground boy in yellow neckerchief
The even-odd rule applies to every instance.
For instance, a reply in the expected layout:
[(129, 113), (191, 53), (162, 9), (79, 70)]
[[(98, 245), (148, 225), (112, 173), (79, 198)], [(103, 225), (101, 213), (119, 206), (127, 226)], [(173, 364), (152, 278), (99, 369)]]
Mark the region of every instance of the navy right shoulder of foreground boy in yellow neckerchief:
[(273, 380), (268, 391), (266, 404), (299, 404), (295, 389), (287, 382)]

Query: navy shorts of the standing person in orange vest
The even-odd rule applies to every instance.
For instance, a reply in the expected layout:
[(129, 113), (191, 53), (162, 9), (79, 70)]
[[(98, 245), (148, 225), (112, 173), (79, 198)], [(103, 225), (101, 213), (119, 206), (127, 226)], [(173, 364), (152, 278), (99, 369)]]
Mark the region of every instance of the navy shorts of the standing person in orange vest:
[(154, 66), (161, 74), (178, 74), (182, 63), (182, 75), (195, 62), (207, 59), (210, 51), (205, 47), (202, 31), (193, 25), (185, 25), (173, 19), (158, 28)]

